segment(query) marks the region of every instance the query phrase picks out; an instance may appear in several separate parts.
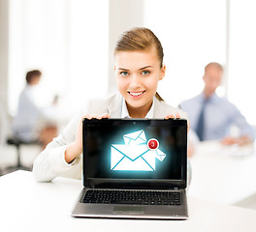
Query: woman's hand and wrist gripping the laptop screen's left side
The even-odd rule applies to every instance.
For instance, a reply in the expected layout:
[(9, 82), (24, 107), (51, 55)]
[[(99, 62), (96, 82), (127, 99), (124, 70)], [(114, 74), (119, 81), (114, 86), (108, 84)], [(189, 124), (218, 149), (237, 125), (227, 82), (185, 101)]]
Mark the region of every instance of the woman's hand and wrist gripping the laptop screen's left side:
[(103, 118), (110, 118), (110, 115), (108, 113), (102, 114), (102, 115), (85, 115), (84, 117), (82, 117), (80, 119), (80, 123), (77, 129), (77, 133), (76, 133), (76, 139), (73, 143), (71, 143), (66, 151), (65, 151), (65, 160), (66, 162), (70, 163), (73, 160), (75, 160), (77, 157), (80, 156), (80, 154), (82, 153), (82, 120), (86, 118), (86, 119), (103, 119)]

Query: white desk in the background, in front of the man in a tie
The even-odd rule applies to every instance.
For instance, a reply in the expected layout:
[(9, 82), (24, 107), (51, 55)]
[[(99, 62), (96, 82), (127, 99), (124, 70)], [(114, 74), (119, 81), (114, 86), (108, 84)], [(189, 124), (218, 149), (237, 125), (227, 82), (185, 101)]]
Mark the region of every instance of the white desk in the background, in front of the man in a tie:
[(256, 155), (253, 146), (239, 148), (222, 146), (216, 141), (203, 142), (198, 145), (190, 161), (190, 196), (232, 205), (256, 194)]

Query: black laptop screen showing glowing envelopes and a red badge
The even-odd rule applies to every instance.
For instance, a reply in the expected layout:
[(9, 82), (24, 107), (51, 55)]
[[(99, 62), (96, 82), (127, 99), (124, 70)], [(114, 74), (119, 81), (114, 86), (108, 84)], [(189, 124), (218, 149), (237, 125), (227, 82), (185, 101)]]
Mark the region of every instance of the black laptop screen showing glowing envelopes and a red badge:
[(83, 120), (83, 185), (186, 186), (186, 120)]

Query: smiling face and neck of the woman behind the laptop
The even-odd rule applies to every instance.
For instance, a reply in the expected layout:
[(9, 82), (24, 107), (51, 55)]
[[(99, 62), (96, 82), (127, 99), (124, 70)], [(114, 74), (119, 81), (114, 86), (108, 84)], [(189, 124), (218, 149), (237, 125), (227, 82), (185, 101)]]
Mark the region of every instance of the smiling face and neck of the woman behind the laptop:
[(161, 67), (155, 48), (116, 52), (114, 70), (130, 116), (144, 118), (166, 70)]

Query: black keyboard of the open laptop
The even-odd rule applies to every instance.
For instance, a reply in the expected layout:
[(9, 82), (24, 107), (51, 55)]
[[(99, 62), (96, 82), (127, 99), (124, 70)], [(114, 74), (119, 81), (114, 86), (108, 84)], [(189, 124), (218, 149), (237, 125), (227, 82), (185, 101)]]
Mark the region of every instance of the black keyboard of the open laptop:
[(91, 204), (180, 205), (180, 192), (89, 189), (81, 202)]

